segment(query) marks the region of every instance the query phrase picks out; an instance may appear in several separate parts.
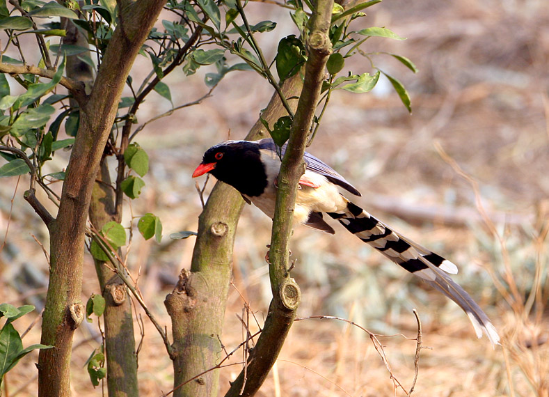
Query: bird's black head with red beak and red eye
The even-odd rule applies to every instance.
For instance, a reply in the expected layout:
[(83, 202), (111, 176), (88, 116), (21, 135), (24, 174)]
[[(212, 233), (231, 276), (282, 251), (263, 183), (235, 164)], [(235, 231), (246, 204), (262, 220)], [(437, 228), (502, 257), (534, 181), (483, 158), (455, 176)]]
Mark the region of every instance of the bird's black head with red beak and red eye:
[(247, 196), (260, 196), (267, 185), (260, 147), (256, 142), (227, 141), (212, 146), (204, 153), (193, 178), (205, 173), (211, 173)]

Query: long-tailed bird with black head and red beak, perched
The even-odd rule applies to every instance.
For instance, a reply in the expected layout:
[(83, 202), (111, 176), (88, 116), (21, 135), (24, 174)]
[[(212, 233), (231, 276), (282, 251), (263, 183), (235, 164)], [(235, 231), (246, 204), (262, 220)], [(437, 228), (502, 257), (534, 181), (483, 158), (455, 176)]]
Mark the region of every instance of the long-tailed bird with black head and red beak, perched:
[[(192, 176), (211, 174), (237, 189), (246, 203), (253, 203), (272, 219), (285, 148), (278, 147), (270, 138), (224, 141), (206, 150)], [(323, 214), (336, 219), (347, 231), (458, 304), (472, 322), (478, 338), (484, 333), (494, 348), (500, 344), (500, 336), (486, 313), (449, 276), (458, 272), (454, 263), (392, 230), (345, 197), (340, 189), (355, 196), (361, 194), (331, 166), (307, 152), (303, 160), (305, 173), (299, 180), (295, 223), (334, 234)]]

